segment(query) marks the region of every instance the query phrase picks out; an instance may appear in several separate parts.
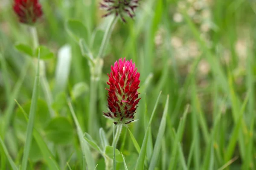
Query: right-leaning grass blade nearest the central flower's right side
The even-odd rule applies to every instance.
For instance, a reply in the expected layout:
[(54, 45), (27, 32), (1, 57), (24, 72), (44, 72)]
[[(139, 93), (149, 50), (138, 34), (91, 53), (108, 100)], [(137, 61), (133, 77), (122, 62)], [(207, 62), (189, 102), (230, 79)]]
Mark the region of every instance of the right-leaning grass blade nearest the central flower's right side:
[(157, 97), (157, 101), (154, 105), (154, 109), (151, 113), (151, 117), (150, 117), (149, 122), (148, 122), (148, 127), (145, 131), (142, 147), (141, 147), (141, 150), (140, 150), (139, 158), (138, 158), (137, 163), (136, 163), (135, 170), (143, 170), (143, 168), (144, 168), (144, 161), (145, 161), (145, 156), (146, 156), (146, 147), (147, 147), (147, 142), (148, 142), (148, 129), (151, 125), (151, 122), (152, 122), (153, 117), (154, 117), (154, 113), (157, 109), (157, 105), (158, 105), (158, 102), (159, 102), (160, 95), (161, 95), (161, 91), (160, 91), (160, 93)]

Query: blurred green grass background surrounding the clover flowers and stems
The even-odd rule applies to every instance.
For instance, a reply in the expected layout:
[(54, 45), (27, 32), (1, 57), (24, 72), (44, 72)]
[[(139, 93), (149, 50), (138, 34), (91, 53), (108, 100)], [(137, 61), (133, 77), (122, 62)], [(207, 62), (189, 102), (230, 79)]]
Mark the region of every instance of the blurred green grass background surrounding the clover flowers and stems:
[[(86, 33), (88, 43), (96, 29), (107, 29), (111, 17), (100, 17), (104, 11), (98, 9), (97, 0), (40, 2), (44, 17), (36, 26), (39, 42), (55, 54), (53, 59), (46, 60), (46, 78), (53, 101), (45, 114), (54, 111), (56, 115), (43, 121), (40, 114), (44, 113), (36, 113), (35, 122), (40, 123), (36, 123), (33, 138), (37, 145), (31, 145), (36, 154), (29, 153), (27, 169), (56, 166), (74, 170), (85, 169), (86, 164), (89, 169), (97, 164), (97, 169), (105, 168), (105, 159), (97, 150), (87, 152), (89, 145), (83, 133), (93, 131), (90, 135), (97, 144), (102, 143), (104, 150), (112, 142), (112, 123), (102, 116), (102, 111), (107, 105), (107, 73), (121, 57), (136, 63), (142, 99), (136, 116), (139, 121), (129, 125), (128, 133), (122, 130), (116, 144), (126, 163), (116, 162), (116, 169), (135, 169), (137, 160), (137, 169), (256, 169), (255, 1), (142, 0), (134, 20), (116, 23), (103, 58), (102, 76), (95, 87), (86, 54), (81, 53), (79, 44), (67, 32), (66, 23), (70, 19), (80, 20), (87, 32), (79, 33)], [(17, 42), (32, 45), (32, 38), (27, 27), (17, 22), (11, 5), (12, 1), (0, 0), (0, 169), (7, 170), (21, 165), (25, 142), (22, 130), (17, 129), (20, 126), (15, 125), (24, 122), (18, 116), (19, 107), (14, 99), (21, 108), (30, 102), (35, 78), (29, 57), (15, 49)], [(96, 37), (93, 45), (99, 46), (101, 42)], [(67, 47), (71, 48), (71, 57), (65, 53), (69, 58), (65, 60), (63, 49)], [(92, 89), (96, 91), (95, 108), (90, 106)], [(146, 134), (160, 91), (158, 107)], [(43, 92), (40, 90), (39, 98), (49, 102)], [(73, 113), (67, 104), (68, 97)], [(187, 104), (188, 113), (183, 114)], [(166, 105), (166, 128), (161, 126), (162, 139), (158, 139)], [(38, 104), (37, 110), (41, 107), (44, 106)], [(92, 117), (90, 111), (96, 115)], [(66, 144), (47, 138), (46, 127), (58, 116), (72, 121), (73, 131), (79, 130), (78, 136)], [(65, 140), (65, 136), (59, 137)]]

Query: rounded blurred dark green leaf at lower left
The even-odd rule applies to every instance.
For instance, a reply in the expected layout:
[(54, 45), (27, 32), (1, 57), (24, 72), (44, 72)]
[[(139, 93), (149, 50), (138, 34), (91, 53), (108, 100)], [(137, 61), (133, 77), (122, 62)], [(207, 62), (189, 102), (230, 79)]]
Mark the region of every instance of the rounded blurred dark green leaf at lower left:
[(52, 119), (45, 128), (45, 134), (49, 141), (55, 144), (69, 144), (73, 140), (73, 127), (65, 117)]

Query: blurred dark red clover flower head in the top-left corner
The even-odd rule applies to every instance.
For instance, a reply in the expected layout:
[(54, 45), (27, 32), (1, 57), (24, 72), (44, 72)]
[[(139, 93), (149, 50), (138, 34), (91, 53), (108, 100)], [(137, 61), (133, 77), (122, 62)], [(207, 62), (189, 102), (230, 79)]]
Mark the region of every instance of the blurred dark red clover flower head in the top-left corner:
[(13, 10), (20, 23), (33, 24), (43, 14), (42, 6), (38, 0), (15, 0)]

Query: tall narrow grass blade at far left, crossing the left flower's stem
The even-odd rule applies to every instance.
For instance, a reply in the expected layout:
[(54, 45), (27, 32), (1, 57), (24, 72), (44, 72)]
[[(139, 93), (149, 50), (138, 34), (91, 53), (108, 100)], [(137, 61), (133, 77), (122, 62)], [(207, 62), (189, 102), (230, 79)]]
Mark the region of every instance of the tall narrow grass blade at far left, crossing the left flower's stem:
[(21, 170), (27, 169), (27, 163), (29, 159), (29, 151), (32, 143), (32, 133), (34, 128), (34, 121), (35, 121), (35, 112), (37, 109), (37, 102), (38, 102), (38, 94), (39, 94), (39, 62), (40, 62), (40, 50), (38, 52), (38, 63), (37, 63), (37, 71), (35, 76), (35, 82), (33, 87), (32, 99), (31, 99), (31, 106), (29, 110), (29, 122), (27, 125), (26, 130), (26, 142), (23, 151), (23, 158), (21, 164)]

